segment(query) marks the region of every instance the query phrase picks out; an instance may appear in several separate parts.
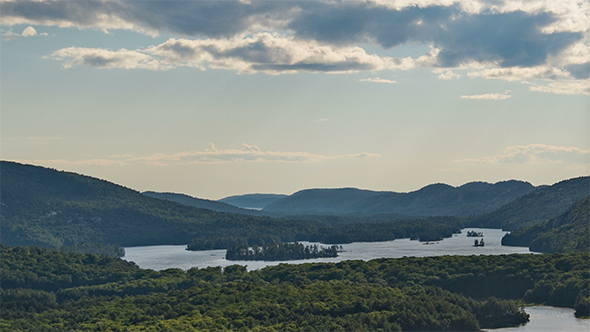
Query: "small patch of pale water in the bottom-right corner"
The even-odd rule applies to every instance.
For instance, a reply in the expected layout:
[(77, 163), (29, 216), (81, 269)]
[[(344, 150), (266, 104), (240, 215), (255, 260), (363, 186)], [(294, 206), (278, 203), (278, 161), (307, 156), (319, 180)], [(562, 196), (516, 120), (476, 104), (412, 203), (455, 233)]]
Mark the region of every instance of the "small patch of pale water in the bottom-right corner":
[(526, 307), (531, 321), (516, 328), (490, 329), (493, 332), (588, 332), (589, 319), (578, 319), (574, 309), (548, 306)]

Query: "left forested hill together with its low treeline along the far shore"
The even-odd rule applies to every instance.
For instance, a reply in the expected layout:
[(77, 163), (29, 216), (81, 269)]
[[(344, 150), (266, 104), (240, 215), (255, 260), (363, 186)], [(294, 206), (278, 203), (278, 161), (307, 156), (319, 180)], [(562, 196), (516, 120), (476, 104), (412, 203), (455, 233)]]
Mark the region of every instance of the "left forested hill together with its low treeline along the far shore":
[[(443, 238), (459, 229), (456, 218), (399, 225), (390, 222), (351, 233), (315, 220), (273, 219), (198, 209), (154, 199), (75, 173), (0, 162), (1, 241), (9, 245), (76, 247), (187, 244), (195, 249), (268, 242)], [(415, 224), (415, 225), (414, 225)]]

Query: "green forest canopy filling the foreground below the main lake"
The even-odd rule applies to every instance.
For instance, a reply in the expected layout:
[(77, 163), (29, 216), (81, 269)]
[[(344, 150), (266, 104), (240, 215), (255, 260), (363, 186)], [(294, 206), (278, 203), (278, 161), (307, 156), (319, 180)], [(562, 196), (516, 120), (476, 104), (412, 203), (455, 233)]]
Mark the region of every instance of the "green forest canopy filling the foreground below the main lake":
[(443, 256), (188, 271), (2, 245), (0, 327), (27, 331), (478, 331), (521, 304), (588, 316), (589, 254)]

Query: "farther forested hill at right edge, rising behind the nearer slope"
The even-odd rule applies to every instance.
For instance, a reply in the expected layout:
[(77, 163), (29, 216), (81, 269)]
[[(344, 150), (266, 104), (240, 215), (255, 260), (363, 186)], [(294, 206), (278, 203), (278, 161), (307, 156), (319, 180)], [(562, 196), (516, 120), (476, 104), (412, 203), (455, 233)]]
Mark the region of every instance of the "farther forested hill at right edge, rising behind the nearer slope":
[(476, 227), (516, 230), (555, 218), (588, 196), (590, 177), (578, 177), (541, 187), (500, 209), (471, 220)]

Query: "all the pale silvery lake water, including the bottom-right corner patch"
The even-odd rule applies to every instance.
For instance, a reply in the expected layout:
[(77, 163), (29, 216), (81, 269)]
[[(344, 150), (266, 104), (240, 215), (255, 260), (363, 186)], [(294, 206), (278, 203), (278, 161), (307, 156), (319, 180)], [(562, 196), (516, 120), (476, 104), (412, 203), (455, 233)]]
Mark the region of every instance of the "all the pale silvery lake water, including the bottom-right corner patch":
[[(483, 232), (486, 245), (473, 247), (475, 238), (467, 237), (467, 231)], [(125, 248), (125, 258), (133, 261), (141, 268), (163, 270), (168, 268), (180, 268), (183, 270), (191, 267), (205, 268), (208, 266), (244, 265), (248, 270), (261, 269), (266, 266), (287, 264), (302, 264), (315, 262), (340, 262), (343, 260), (361, 259), (371, 260), (375, 258), (401, 258), (404, 256), (428, 257), (443, 255), (507, 255), (531, 253), (528, 248), (506, 247), (501, 245), (504, 232), (499, 229), (466, 228), (461, 234), (443, 241), (424, 244), (409, 239), (401, 239), (385, 242), (356, 242), (343, 244), (344, 252), (335, 258), (318, 258), (293, 261), (227, 261), (225, 250), (188, 251), (186, 246), (146, 246)], [(315, 244), (302, 242), (303, 244)], [(318, 243), (319, 244), (319, 243)], [(322, 244), (319, 244), (322, 245)], [(325, 245), (324, 245), (325, 246)], [(574, 310), (569, 308), (556, 308), (547, 306), (527, 307), (526, 312), (531, 315), (531, 321), (526, 325), (516, 328), (493, 329), (490, 331), (551, 331), (551, 332), (588, 332), (590, 320), (576, 319)]]

